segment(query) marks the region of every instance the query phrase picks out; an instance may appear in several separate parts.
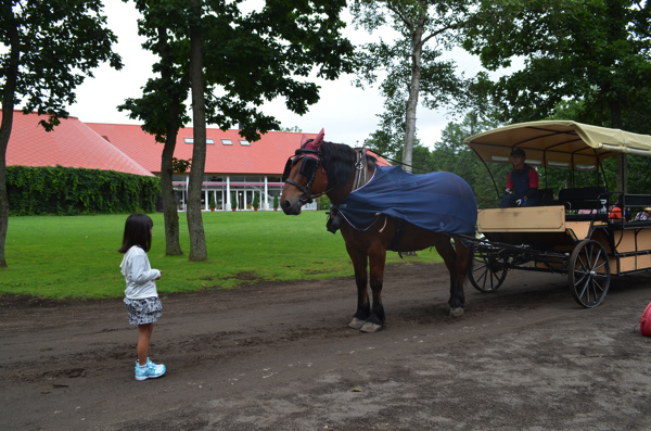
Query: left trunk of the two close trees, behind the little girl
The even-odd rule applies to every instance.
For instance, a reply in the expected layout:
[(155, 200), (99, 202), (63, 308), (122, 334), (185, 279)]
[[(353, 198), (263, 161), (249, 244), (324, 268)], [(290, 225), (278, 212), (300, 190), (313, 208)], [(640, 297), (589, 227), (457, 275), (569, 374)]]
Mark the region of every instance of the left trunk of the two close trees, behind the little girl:
[[(167, 29), (158, 27), (158, 46), (162, 63), (165, 66), (161, 71), (163, 79), (171, 79), (169, 64), (169, 47), (167, 46)], [(161, 157), (161, 192), (163, 198), (163, 218), (165, 224), (165, 255), (178, 256), (183, 254), (179, 243), (179, 214), (174, 194), (171, 160), (179, 132), (180, 96), (178, 91), (171, 96), (171, 104), (167, 113), (167, 125), (165, 135), (165, 147)]]

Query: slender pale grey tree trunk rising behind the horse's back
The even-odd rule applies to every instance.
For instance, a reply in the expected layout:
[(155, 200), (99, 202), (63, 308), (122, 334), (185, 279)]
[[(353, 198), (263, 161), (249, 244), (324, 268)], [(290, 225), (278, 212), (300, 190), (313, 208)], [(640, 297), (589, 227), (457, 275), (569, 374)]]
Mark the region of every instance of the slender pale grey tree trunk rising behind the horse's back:
[(405, 149), (403, 150), (403, 168), (410, 173), (413, 141), (416, 140), (416, 107), (418, 106), (418, 93), (420, 91), (421, 54), (423, 52), (423, 27), (425, 20), (420, 17), (416, 22), (416, 28), (411, 33), (411, 83), (409, 85), (409, 99), (407, 100), (407, 116), (405, 118)]

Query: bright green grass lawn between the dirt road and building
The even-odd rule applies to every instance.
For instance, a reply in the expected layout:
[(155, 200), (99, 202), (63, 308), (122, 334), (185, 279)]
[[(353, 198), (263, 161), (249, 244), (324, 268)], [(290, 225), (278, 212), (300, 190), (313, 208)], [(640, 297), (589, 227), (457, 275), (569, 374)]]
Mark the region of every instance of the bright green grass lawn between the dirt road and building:
[[(340, 232), (326, 230), (326, 213), (203, 213), (207, 262), (188, 262), (186, 214), (179, 213), (183, 256), (165, 256), (163, 214), (150, 214), (154, 238), (149, 258), (163, 270), (162, 294), (227, 289), (243, 280), (304, 280), (349, 276), (353, 266)], [(0, 294), (100, 299), (124, 295), (117, 253), (127, 215), (10, 217), (8, 268), (0, 269)], [(441, 262), (432, 250), (408, 262)], [(387, 253), (387, 263), (400, 261)]]

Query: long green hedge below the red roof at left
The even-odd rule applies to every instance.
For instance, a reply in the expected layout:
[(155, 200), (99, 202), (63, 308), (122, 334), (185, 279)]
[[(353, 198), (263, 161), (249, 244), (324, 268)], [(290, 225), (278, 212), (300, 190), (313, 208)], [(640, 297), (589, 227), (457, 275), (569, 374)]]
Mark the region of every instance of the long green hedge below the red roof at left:
[(156, 177), (63, 166), (8, 166), (10, 215), (80, 215), (155, 211)]

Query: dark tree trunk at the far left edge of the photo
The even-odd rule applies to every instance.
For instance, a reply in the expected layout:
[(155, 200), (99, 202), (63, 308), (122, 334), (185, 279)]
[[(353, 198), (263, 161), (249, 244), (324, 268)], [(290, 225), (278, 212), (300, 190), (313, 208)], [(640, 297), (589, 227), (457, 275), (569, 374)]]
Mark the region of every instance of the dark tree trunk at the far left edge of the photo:
[[(8, 28), (9, 27), (9, 28)], [(9, 66), (3, 71), (5, 76), (2, 92), (2, 124), (0, 124), (0, 268), (7, 268), (4, 243), (9, 229), (9, 197), (7, 194), (7, 147), (13, 126), (14, 93), (18, 77), (20, 37), (15, 27), (4, 28), (9, 34)]]

